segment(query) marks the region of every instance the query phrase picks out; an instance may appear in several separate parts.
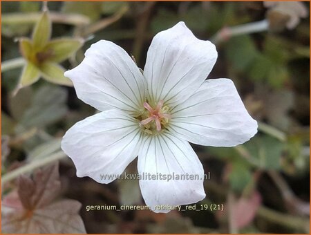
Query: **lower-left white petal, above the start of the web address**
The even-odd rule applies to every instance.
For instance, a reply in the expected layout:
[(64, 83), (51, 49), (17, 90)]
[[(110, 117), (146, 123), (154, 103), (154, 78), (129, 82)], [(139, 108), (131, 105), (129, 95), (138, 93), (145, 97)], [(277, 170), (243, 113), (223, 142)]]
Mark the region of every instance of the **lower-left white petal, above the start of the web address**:
[(109, 183), (138, 156), (140, 140), (138, 122), (111, 109), (77, 122), (64, 135), (62, 149), (75, 163), (78, 177)]

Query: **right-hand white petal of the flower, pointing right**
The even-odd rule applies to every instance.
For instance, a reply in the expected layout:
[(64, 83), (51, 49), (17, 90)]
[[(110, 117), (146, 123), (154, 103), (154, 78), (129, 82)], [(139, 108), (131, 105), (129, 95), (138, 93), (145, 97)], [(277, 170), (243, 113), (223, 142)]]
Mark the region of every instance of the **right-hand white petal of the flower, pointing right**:
[(169, 130), (194, 144), (232, 147), (257, 133), (230, 79), (208, 79), (187, 101), (171, 110)]

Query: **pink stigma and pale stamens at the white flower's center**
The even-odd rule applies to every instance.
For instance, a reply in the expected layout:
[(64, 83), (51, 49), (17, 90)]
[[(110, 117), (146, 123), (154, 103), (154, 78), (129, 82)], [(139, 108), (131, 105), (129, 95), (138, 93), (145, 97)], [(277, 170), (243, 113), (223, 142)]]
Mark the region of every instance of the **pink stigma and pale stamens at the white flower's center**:
[(140, 124), (144, 127), (144, 132), (153, 134), (156, 130), (160, 132), (165, 128), (171, 115), (168, 113), (169, 106), (163, 107), (163, 100), (160, 100), (155, 109), (153, 109), (150, 104), (144, 102), (144, 108), (147, 109), (142, 115), (142, 120)]

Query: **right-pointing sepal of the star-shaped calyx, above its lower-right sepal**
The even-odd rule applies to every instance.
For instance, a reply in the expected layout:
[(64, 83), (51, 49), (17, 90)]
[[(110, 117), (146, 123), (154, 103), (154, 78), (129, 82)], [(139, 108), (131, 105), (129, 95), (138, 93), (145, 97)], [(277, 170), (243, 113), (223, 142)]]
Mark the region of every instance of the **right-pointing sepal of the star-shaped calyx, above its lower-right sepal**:
[(83, 39), (62, 38), (49, 41), (44, 52), (51, 54), (48, 60), (51, 62), (62, 62), (73, 55), (82, 45)]

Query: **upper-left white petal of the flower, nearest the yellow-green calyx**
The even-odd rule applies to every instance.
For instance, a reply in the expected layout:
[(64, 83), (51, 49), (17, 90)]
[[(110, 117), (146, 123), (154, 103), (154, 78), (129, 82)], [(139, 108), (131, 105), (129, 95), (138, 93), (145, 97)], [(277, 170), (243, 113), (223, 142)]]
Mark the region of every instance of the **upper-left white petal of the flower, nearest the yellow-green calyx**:
[(100, 111), (133, 113), (144, 102), (144, 77), (131, 57), (111, 41), (97, 41), (79, 66), (65, 73), (79, 99)]

